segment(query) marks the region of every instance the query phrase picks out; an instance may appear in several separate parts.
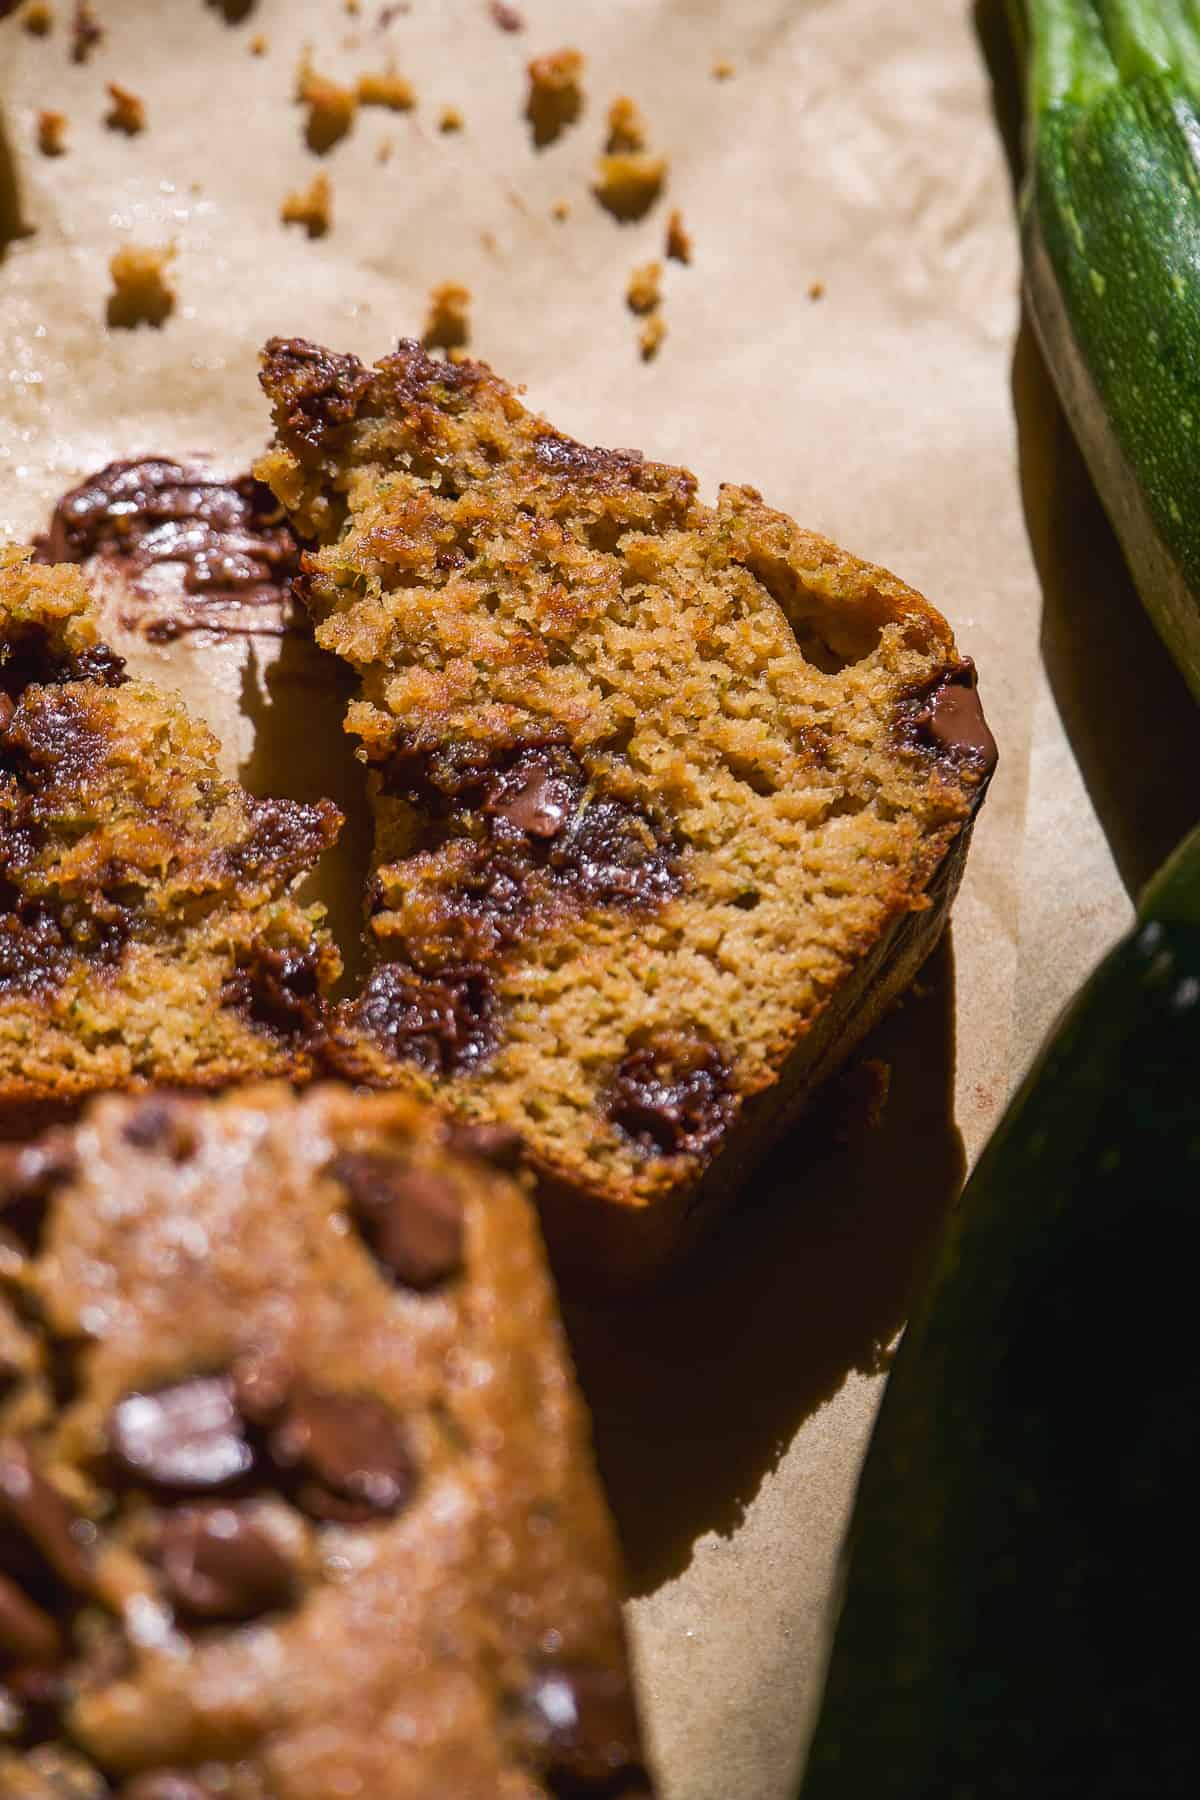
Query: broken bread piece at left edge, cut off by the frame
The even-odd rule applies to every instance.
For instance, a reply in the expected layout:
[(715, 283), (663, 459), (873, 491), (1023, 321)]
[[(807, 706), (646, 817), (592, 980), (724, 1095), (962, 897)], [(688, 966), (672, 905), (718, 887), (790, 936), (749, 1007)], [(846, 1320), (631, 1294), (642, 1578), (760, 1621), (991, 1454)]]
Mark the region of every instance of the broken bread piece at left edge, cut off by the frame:
[(0, 551), (0, 1125), (97, 1089), (311, 1071), (338, 956), (293, 886), (322, 803), (221, 778), (184, 706), (126, 680), (72, 567)]

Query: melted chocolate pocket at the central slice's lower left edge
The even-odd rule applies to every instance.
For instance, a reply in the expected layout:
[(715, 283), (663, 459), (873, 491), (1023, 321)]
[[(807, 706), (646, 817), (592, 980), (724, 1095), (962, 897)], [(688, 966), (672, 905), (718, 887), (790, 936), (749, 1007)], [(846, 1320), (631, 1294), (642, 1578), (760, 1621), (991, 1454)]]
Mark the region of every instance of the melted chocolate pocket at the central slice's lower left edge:
[(372, 970), (351, 1019), (398, 1060), (432, 1075), (473, 1067), (495, 1049), (491, 976), (473, 965), (435, 976), (383, 963)]

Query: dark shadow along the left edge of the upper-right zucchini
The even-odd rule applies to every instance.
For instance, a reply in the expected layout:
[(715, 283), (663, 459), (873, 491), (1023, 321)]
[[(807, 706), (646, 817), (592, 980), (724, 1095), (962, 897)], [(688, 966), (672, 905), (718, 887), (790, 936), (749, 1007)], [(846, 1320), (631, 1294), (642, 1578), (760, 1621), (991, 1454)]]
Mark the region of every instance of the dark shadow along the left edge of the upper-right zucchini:
[[(1016, 194), (1022, 99), (1006, 0), (975, 0), (975, 29)], [(1137, 896), (1196, 823), (1200, 711), (1142, 610), (1025, 308), (1011, 382), (1042, 661), (1112, 859)]]

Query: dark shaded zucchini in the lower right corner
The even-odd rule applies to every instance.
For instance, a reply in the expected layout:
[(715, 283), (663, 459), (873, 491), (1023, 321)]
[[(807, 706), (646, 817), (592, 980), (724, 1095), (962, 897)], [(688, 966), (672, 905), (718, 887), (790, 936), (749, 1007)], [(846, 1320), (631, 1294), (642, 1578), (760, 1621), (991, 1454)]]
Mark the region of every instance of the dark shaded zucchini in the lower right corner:
[(802, 1800), (1200, 1793), (1200, 832), (1051, 1037), (901, 1341)]

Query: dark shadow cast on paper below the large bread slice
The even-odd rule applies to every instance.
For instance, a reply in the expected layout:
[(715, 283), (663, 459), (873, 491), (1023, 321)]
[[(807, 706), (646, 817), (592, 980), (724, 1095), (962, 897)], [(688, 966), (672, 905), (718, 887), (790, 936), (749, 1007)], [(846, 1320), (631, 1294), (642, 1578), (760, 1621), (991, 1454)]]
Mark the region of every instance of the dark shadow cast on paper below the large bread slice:
[(797, 1427), (885, 1363), (964, 1175), (948, 938), (860, 1058), (892, 1069), (878, 1127), (829, 1141), (835, 1082), (673, 1289), (565, 1303), (633, 1593), (732, 1532)]

